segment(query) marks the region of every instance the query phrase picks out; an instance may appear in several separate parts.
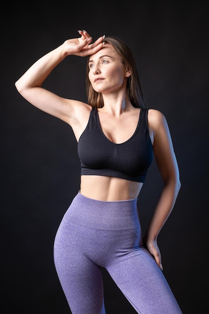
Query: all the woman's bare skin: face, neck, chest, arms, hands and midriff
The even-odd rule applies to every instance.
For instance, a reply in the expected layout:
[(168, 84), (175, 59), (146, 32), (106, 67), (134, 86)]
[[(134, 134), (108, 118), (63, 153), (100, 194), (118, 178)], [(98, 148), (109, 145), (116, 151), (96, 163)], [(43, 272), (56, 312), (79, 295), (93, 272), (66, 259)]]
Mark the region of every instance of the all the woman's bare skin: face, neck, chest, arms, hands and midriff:
[[(103, 37), (92, 43), (92, 38), (86, 31), (78, 32), (81, 37), (66, 40), (35, 62), (16, 82), (16, 88), (31, 104), (68, 123), (78, 141), (88, 123), (92, 107), (81, 101), (60, 97), (44, 89), (42, 84), (67, 56), (91, 56), (89, 79), (104, 99), (104, 107), (98, 109), (102, 130), (109, 140), (122, 143), (134, 133), (140, 113), (140, 109), (133, 107), (126, 97), (126, 82), (131, 72), (124, 67), (114, 48), (103, 44)], [(158, 110), (149, 109), (148, 126), (163, 189), (145, 232), (144, 244), (162, 270), (157, 236), (173, 209), (180, 181), (164, 115)], [(142, 185), (114, 177), (81, 176), (80, 192), (95, 200), (120, 201), (137, 198)]]

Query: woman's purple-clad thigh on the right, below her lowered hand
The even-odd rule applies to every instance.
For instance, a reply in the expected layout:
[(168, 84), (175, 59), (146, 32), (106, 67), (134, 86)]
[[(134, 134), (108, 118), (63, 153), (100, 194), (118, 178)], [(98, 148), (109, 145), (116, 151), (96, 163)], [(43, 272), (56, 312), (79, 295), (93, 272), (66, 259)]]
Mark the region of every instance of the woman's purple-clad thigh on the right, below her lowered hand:
[(115, 260), (108, 271), (138, 313), (182, 313), (162, 271), (145, 248), (116, 255)]

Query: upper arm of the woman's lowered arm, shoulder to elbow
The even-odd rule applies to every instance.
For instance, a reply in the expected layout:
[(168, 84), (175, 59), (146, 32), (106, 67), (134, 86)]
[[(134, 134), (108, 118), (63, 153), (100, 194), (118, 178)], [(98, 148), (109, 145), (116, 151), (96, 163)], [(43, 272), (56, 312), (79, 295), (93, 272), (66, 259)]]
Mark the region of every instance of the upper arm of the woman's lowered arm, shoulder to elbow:
[(170, 131), (165, 116), (158, 110), (149, 109), (148, 124), (153, 135), (153, 151), (163, 182), (178, 182), (179, 171)]

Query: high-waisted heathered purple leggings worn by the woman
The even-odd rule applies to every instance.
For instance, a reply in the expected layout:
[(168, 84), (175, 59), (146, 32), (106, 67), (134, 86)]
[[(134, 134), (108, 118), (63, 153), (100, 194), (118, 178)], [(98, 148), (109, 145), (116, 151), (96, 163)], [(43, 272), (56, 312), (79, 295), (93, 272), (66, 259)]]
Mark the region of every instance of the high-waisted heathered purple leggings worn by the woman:
[(137, 199), (105, 202), (79, 192), (57, 231), (54, 261), (73, 314), (106, 313), (101, 267), (137, 313), (182, 314), (143, 246)]

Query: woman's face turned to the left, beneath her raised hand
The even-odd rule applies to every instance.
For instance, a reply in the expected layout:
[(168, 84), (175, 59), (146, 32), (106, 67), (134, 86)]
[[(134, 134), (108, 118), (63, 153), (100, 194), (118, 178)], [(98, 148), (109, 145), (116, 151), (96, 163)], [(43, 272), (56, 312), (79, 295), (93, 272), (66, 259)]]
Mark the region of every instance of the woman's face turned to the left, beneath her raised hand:
[(110, 44), (105, 44), (97, 53), (89, 57), (89, 80), (99, 93), (117, 92), (124, 86), (126, 71), (120, 56)]

